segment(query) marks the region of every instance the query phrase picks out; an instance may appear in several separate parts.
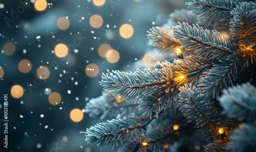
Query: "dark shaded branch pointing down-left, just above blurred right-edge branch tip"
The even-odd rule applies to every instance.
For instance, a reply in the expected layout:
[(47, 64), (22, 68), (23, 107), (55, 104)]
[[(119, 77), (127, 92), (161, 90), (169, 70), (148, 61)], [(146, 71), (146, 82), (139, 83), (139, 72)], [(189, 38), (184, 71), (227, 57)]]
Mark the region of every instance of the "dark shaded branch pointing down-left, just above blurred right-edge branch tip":
[(215, 64), (211, 69), (205, 70), (199, 78), (198, 87), (209, 98), (218, 98), (220, 91), (233, 86), (233, 81), (241, 73), (239, 58), (229, 56), (229, 58), (221, 62)]

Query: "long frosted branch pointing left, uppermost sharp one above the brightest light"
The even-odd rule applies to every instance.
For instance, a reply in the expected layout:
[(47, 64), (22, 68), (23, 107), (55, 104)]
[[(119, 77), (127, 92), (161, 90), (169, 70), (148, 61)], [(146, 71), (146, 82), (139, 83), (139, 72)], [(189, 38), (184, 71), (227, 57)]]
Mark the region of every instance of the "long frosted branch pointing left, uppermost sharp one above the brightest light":
[(173, 27), (174, 37), (187, 50), (195, 50), (200, 56), (209, 60), (225, 59), (227, 55), (234, 54), (236, 47), (228, 40), (228, 37), (213, 31), (200, 28), (198, 24), (194, 27), (188, 23), (180, 23)]

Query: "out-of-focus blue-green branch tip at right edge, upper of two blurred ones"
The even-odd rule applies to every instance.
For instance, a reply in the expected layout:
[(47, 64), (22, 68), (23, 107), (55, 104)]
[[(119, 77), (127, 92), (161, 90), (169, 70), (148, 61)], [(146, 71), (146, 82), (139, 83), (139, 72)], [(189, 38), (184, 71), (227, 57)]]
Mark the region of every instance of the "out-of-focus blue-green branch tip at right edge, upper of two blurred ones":
[(224, 90), (220, 104), (229, 117), (256, 120), (256, 88), (249, 83)]

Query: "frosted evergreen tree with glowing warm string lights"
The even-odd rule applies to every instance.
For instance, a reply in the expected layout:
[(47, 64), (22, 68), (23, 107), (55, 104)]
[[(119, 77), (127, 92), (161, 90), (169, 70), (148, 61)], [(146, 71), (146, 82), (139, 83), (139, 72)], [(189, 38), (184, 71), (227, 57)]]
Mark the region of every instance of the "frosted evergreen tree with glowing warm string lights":
[(154, 67), (102, 74), (104, 91), (86, 112), (112, 120), (82, 132), (87, 143), (124, 144), (119, 151), (256, 151), (256, 5), (186, 5), (148, 31), (163, 56)]

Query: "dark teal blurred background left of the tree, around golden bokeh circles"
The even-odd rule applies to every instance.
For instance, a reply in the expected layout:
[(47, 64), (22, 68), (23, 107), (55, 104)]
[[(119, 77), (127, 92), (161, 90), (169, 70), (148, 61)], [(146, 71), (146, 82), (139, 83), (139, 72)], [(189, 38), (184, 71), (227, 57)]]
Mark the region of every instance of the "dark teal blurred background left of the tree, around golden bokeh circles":
[[(119, 1), (121, 3), (113, 10), (110, 4), (113, 1), (117, 2), (106, 0), (103, 6), (96, 7), (90, 0), (48, 0), (49, 6), (41, 12), (35, 10), (34, 1), (21, 1), (28, 2), (30, 7), (10, 22), (10, 26), (4, 18), (11, 18), (11, 10), (16, 10), (21, 4), (19, 1), (0, 1), (0, 67), (4, 71), (4, 76), (0, 79), (0, 151), (100, 150), (96, 145), (88, 145), (84, 141), (84, 134), (79, 132), (105, 120), (99, 120), (98, 117), (92, 119), (83, 113), (80, 122), (73, 122), (69, 116), (71, 110), (78, 108), (84, 112), (86, 102), (101, 94), (102, 88), (98, 82), (101, 80), (101, 73), (106, 72), (106, 69), (134, 71), (133, 63), (143, 57), (148, 47), (146, 31), (161, 26), (170, 12), (184, 7), (185, 3), (175, 0), (124, 0)], [(103, 25), (98, 29), (92, 28), (89, 23), (94, 14), (103, 18)], [(67, 30), (57, 27), (57, 19), (61, 16), (69, 18), (70, 26)], [(119, 28), (124, 23), (131, 24), (134, 29), (134, 34), (129, 39), (119, 35)], [(75, 34), (78, 33), (86, 37), (75, 47), (78, 53), (69, 50), (70, 54), (64, 59), (52, 53), (58, 43), (72, 44)], [(37, 39), (37, 36), (40, 38)], [(15, 45), (14, 54), (9, 56), (3, 50), (7, 42)], [(118, 62), (109, 63), (98, 55), (98, 47), (103, 43), (118, 50)], [(22, 73), (17, 68), (19, 61), (23, 59), (32, 64), (28, 73)], [(53, 69), (47, 80), (43, 80), (30, 91), (28, 84), (33, 84), (36, 79), (34, 75), (37, 68), (50, 66), (52, 62), (58, 64), (57, 69)], [(90, 63), (99, 67), (99, 73), (94, 78), (88, 77), (84, 72)], [(75, 85), (75, 82), (78, 84)], [(20, 98), (14, 98), (10, 93), (11, 87), (16, 84), (24, 89), (24, 95)], [(61, 95), (60, 104), (53, 106), (49, 103), (50, 92), (46, 92), (46, 88)], [(71, 91), (70, 94), (68, 90)], [(4, 94), (8, 94), (9, 103), (8, 149), (3, 144)], [(56, 144), (60, 146), (59, 149), (55, 148)], [(111, 150), (111, 146), (102, 149)]]

